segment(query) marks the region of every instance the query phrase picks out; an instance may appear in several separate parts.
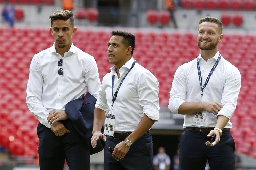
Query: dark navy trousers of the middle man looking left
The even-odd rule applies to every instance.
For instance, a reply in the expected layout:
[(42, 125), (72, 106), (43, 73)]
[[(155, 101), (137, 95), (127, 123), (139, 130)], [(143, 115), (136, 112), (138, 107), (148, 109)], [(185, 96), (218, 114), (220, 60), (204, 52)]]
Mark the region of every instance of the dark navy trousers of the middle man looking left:
[(122, 161), (117, 161), (109, 153), (108, 148), (115, 147), (124, 139), (114, 139), (107, 136), (104, 148), (104, 170), (152, 170), (153, 169), (153, 141), (151, 134), (145, 134), (131, 146)]

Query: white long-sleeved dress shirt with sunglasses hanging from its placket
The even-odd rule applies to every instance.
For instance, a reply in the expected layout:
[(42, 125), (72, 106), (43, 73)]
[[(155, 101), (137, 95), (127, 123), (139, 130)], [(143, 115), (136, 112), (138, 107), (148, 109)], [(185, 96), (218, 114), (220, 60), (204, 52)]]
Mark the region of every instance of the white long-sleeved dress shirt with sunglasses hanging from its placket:
[[(63, 58), (63, 65), (58, 61)], [(63, 76), (58, 74), (63, 68)], [(50, 111), (64, 110), (67, 102), (82, 97), (87, 90), (98, 98), (101, 87), (96, 61), (72, 43), (64, 57), (56, 52), (55, 46), (35, 54), (27, 83), (26, 102), (29, 110), (48, 128)]]

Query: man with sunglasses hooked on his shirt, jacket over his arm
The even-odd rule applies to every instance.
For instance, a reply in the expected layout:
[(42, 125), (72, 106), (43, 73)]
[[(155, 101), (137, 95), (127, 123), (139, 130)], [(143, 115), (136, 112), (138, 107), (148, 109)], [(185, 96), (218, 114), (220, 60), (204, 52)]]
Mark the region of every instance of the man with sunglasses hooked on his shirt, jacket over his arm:
[(89, 170), (90, 142), (74, 129), (64, 110), (68, 102), (87, 91), (98, 98), (97, 64), (72, 43), (77, 28), (71, 11), (58, 10), (50, 20), (55, 42), (34, 55), (27, 83), (26, 102), (39, 120), (40, 169), (63, 170), (66, 159), (70, 170)]

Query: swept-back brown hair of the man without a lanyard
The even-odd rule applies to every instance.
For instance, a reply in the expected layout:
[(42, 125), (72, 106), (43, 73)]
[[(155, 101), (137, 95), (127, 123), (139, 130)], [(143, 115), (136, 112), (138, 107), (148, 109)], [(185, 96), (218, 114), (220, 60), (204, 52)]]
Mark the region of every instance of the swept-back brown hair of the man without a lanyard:
[(54, 12), (51, 16), (50, 16), (50, 20), (51, 20), (51, 25), (53, 25), (53, 22), (56, 20), (70, 20), (70, 24), (72, 26), (72, 28), (74, 28), (75, 26), (75, 21), (74, 21), (74, 14), (69, 11), (69, 10), (57, 10), (56, 12)]

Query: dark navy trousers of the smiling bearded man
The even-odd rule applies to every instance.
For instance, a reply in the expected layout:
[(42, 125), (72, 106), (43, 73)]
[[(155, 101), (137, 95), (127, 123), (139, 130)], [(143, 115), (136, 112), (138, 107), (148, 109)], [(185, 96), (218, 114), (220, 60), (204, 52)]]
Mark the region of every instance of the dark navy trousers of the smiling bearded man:
[(235, 142), (230, 132), (223, 132), (221, 141), (207, 146), (207, 134), (184, 131), (179, 140), (179, 169), (204, 170), (208, 160), (211, 170), (235, 170)]

